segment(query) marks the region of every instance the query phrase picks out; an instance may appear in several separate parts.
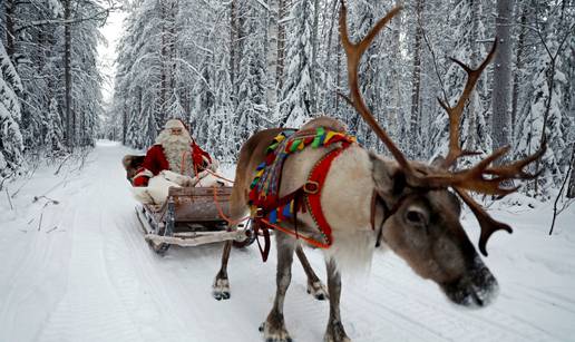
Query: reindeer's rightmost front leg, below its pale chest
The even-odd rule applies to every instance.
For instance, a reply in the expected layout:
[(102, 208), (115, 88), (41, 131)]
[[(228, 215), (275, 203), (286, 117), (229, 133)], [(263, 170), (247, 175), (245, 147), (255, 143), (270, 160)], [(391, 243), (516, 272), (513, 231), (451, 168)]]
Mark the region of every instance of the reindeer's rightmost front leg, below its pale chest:
[(335, 267), (335, 262), (330, 258), (327, 263), (328, 290), (330, 292), (330, 320), (325, 330), (324, 342), (351, 342), (345, 334), (340, 317), (341, 275)]

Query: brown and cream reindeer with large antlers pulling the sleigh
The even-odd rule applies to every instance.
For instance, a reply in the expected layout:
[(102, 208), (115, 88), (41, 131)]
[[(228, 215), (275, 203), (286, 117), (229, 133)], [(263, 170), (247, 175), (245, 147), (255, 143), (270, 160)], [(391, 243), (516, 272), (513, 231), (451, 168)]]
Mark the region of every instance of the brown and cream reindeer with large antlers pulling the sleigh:
[[(332, 228), (332, 244), (323, 250), (328, 271), (330, 314), (324, 341), (350, 341), (340, 317), (341, 272), (347, 266), (370, 262), (376, 245), (387, 246), (422, 279), (436, 282), (447, 297), (465, 306), (485, 306), (493, 302), (498, 284), (483, 263), (459, 221), (459, 198), (477, 217), (481, 227), (479, 250), (487, 256), (487, 241), (499, 229), (511, 228), (491, 218), (468, 192), (487, 195), (507, 195), (517, 190), (505, 184), (513, 179), (529, 179), (534, 175), (524, 168), (539, 158), (544, 145), (534, 155), (511, 163), (493, 165), (508, 152), (497, 149), (475, 166), (455, 169), (457, 160), (476, 153), (464, 150), (459, 143), (459, 123), (465, 104), (479, 76), (491, 60), (496, 45), (477, 69), (455, 60), (466, 72), (467, 82), (457, 104), (451, 107), (439, 100), (449, 116), (449, 152), (432, 165), (408, 160), (387, 133), (374, 120), (366, 106), (358, 86), (358, 65), (361, 56), (377, 33), (398, 13), (392, 9), (380, 19), (358, 43), (348, 36), (347, 9), (340, 9), (340, 36), (347, 55), (348, 78), (351, 96), (348, 102), (371, 126), (389, 149), (393, 159), (367, 150), (359, 144), (345, 148), (329, 169), (321, 205)], [(313, 126), (313, 125), (312, 125)], [(264, 159), (265, 148), (281, 128), (266, 129), (252, 136), (242, 147), (232, 194), (232, 214), (242, 217), (247, 211), (248, 185), (255, 167)], [(284, 164), (280, 193), (289, 194), (306, 182), (315, 163), (329, 150), (305, 148), (288, 158)], [(376, 205), (372, 196), (377, 195)], [(372, 209), (373, 208), (373, 209)], [(380, 223), (372, 229), (370, 221)], [(316, 234), (309, 213), (298, 216), (302, 234)], [(276, 294), (273, 307), (261, 326), (266, 341), (292, 341), (284, 324), (283, 302), (291, 281), (293, 252), (300, 251), (301, 240), (276, 232), (277, 273)], [(300, 254), (300, 253), (298, 253)], [(214, 293), (221, 294), (222, 284), (227, 284), (225, 267), (228, 246), (224, 248), (222, 270), (216, 276)], [(225, 291), (228, 291), (226, 287)]]

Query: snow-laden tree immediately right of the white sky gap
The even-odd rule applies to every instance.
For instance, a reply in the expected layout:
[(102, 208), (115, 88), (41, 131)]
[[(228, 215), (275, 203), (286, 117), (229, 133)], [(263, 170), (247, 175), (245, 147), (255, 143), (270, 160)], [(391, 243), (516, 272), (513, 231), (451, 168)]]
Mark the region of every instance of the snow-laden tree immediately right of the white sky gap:
[(142, 147), (155, 140), (169, 100), (176, 99), (172, 96), (175, 31), (170, 30), (175, 19), (174, 9), (156, 0), (138, 0), (128, 9), (126, 35), (118, 45), (113, 106), (121, 108), (126, 144)]

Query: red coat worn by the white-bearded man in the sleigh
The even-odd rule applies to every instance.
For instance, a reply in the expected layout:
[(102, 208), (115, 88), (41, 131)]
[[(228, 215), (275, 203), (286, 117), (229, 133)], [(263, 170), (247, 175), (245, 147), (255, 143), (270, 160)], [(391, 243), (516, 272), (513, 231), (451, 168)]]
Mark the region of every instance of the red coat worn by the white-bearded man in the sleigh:
[[(205, 150), (203, 150), (194, 140), (189, 145), (192, 149), (192, 158), (194, 160), (194, 169), (203, 170), (212, 163), (212, 157)], [(208, 162), (206, 163), (205, 159)], [(134, 186), (146, 186), (148, 179), (160, 172), (169, 169), (169, 163), (164, 154), (164, 147), (160, 144), (152, 146), (146, 153), (144, 163), (138, 169), (136, 176), (134, 176)]]

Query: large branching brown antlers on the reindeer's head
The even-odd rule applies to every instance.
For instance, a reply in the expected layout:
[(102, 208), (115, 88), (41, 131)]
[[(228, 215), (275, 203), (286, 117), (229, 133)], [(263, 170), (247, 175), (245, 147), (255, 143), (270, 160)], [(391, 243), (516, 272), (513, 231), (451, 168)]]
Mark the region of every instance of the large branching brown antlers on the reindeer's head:
[(504, 185), (507, 183), (507, 180), (532, 179), (536, 176), (526, 173), (524, 168), (534, 160), (538, 159), (545, 153), (545, 140), (543, 141), (539, 150), (537, 150), (534, 155), (517, 162), (501, 164), (498, 166), (491, 165), (495, 160), (501, 158), (509, 150), (509, 147), (505, 146), (497, 149), (471, 168), (462, 170), (449, 170), (449, 168), (454, 166), (458, 158), (478, 154), (476, 152), (464, 150), (461, 148), (459, 143), (459, 125), (461, 123), (461, 115), (464, 113), (466, 102), (469, 99), (469, 96), (471, 95), (477, 80), (495, 55), (497, 43), (494, 43), (491, 50), (477, 69), (471, 69), (461, 61), (451, 58), (452, 61), (459, 65), (467, 72), (467, 82), (455, 107), (449, 106), (447, 99), (445, 101), (439, 99), (439, 104), (449, 116), (449, 152), (439, 170), (428, 175), (416, 174), (405, 155), (399, 150), (388, 134), (376, 121), (373, 115), (366, 106), (358, 86), (358, 67), (361, 56), (371, 45), (378, 32), (381, 31), (386, 23), (388, 23), (400, 10), (401, 7), (396, 7), (389, 11), (386, 17), (380, 19), (374, 25), (366, 38), (363, 38), (358, 43), (352, 43), (348, 33), (345, 4), (343, 3), (343, 0), (341, 0), (340, 36), (348, 58), (348, 79), (351, 94), (351, 99), (348, 97), (344, 98), (358, 110), (361, 117), (371, 126), (373, 131), (383, 141), (383, 144), (386, 144), (400, 167), (403, 169), (403, 173), (406, 174), (406, 180), (411, 187), (428, 189), (452, 187), (455, 192), (459, 194), (461, 199), (470, 207), (471, 212), (475, 214), (477, 221), (479, 222), (481, 227), (479, 250), (484, 255), (487, 256), (486, 245), (491, 234), (499, 229), (504, 229), (509, 233), (513, 231), (508, 225), (491, 218), (466, 190), (501, 196), (516, 192), (517, 187), (508, 188), (504, 187)]

